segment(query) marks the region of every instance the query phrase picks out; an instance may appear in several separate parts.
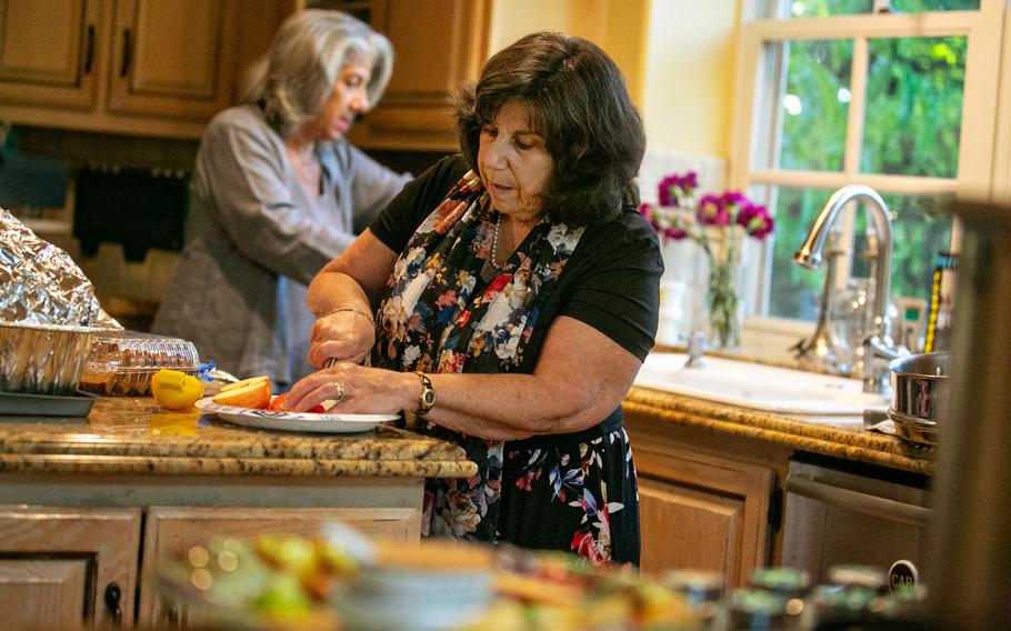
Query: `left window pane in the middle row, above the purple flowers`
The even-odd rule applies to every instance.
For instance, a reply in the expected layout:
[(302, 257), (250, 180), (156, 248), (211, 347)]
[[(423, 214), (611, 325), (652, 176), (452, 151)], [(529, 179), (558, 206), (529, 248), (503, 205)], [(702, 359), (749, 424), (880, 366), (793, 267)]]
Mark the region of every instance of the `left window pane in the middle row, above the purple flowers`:
[(782, 43), (787, 86), (780, 99), (778, 167), (841, 171), (850, 103), (852, 40)]

